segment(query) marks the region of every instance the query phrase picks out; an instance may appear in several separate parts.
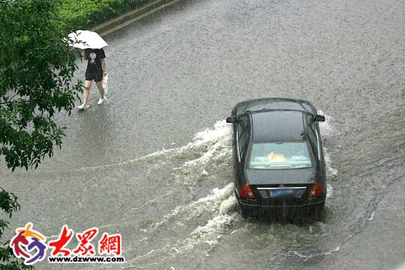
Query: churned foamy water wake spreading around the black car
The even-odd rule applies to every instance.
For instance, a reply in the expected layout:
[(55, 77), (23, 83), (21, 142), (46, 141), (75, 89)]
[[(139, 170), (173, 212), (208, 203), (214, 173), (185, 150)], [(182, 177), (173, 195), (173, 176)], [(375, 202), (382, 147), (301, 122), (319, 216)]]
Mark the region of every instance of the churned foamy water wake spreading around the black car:
[(335, 212), (338, 173), (327, 149), (334, 128), (330, 117), (325, 117), (320, 123), (328, 182), (323, 223), (269, 224), (240, 217), (235, 210), (232, 126), (225, 120), (197, 133), (183, 147), (123, 163), (85, 167), (79, 173), (85, 179), (102, 176), (107, 183), (128, 187), (122, 195), (123, 200), (128, 198), (123, 202), (127, 206), (124, 215), (117, 215), (105, 229), (123, 233), (129, 269), (190, 269), (191, 265), (204, 269), (206, 264), (209, 268), (215, 257), (239, 256), (236, 246), (246, 247), (246, 256), (254, 250), (255, 257), (268, 257), (273, 263), (303, 262), (328, 255), (339, 246), (333, 236), (339, 235), (341, 227), (329, 223)]

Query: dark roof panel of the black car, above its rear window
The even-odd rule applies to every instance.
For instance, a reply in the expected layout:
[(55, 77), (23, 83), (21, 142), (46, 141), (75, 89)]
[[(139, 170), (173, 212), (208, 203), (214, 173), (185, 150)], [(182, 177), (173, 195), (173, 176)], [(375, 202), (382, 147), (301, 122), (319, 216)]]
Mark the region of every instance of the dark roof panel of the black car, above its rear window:
[(304, 137), (304, 112), (272, 110), (251, 112), (253, 142), (297, 141)]

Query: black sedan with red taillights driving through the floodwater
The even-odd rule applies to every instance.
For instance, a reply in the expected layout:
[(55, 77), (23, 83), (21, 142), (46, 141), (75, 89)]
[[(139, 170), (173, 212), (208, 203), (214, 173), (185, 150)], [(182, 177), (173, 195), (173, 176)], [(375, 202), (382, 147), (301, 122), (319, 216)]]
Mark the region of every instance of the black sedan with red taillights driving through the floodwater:
[(233, 123), (237, 208), (249, 216), (311, 216), (325, 205), (325, 160), (314, 105), (261, 98), (238, 103)]

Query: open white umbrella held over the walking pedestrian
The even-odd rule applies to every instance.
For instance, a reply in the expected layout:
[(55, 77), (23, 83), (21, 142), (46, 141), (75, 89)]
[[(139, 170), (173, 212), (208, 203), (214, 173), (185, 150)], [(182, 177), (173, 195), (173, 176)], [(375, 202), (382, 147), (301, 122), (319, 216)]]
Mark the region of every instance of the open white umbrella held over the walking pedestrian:
[(108, 44), (98, 36), (98, 33), (87, 30), (78, 30), (73, 33), (69, 33), (69, 38), (73, 40), (73, 43), (69, 43), (72, 47), (79, 49), (101, 49), (108, 46)]

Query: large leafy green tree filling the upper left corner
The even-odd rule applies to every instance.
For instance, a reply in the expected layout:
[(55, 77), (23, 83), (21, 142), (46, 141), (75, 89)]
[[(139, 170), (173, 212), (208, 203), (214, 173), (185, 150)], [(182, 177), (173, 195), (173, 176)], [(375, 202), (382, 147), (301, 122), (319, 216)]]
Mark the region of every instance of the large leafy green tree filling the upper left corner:
[(12, 170), (37, 167), (61, 147), (54, 114), (70, 113), (82, 91), (71, 84), (78, 54), (63, 41), (59, 4), (0, 0), (0, 157)]

